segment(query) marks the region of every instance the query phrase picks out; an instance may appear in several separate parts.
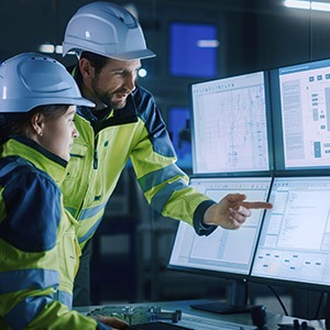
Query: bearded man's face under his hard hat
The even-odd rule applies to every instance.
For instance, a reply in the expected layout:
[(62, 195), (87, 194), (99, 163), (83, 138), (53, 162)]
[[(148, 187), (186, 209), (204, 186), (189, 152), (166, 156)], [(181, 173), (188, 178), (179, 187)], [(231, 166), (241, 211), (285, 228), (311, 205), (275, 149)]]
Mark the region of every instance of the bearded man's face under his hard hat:
[(101, 72), (91, 77), (90, 87), (95, 97), (110, 109), (122, 109), (128, 96), (135, 89), (140, 59), (110, 59)]

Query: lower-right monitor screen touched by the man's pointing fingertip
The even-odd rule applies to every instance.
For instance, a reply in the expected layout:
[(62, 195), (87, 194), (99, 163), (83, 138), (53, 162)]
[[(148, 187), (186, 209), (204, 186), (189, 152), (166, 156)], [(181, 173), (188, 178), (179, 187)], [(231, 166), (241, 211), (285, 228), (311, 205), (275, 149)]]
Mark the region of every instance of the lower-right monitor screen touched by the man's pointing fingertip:
[(252, 277), (330, 286), (330, 177), (275, 177)]

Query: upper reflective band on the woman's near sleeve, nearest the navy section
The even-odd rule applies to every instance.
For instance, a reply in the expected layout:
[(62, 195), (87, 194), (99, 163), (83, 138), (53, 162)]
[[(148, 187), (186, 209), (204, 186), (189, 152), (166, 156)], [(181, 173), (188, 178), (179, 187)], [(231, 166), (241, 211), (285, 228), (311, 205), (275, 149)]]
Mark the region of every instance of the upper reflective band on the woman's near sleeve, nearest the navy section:
[(26, 288), (45, 289), (57, 288), (58, 272), (50, 270), (20, 270), (0, 273), (0, 294), (19, 292)]

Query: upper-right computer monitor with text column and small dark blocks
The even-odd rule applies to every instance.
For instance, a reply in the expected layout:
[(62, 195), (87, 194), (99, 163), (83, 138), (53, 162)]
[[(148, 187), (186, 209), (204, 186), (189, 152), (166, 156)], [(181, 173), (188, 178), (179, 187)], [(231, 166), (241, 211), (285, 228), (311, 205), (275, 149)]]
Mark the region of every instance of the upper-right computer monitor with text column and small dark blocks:
[(330, 166), (330, 59), (271, 70), (275, 170), (319, 172)]

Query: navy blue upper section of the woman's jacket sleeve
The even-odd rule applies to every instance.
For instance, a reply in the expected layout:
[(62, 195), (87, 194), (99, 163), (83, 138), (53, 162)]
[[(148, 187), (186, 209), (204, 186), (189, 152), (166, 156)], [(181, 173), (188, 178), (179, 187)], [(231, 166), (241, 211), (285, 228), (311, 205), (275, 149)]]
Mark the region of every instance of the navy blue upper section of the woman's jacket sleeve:
[(18, 175), (6, 186), (2, 198), (6, 218), (0, 237), (25, 252), (51, 250), (61, 221), (61, 190), (42, 173)]

